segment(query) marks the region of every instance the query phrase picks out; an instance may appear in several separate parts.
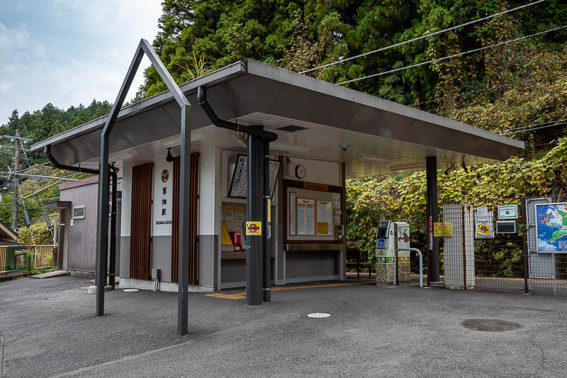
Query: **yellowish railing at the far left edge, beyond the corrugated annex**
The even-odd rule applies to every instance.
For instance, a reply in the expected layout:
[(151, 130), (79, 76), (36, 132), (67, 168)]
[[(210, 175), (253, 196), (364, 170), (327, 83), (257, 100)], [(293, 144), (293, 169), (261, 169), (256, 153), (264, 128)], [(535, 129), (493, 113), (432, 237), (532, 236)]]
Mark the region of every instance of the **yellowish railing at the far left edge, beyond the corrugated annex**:
[(57, 245), (8, 245), (0, 247), (0, 273), (50, 268)]

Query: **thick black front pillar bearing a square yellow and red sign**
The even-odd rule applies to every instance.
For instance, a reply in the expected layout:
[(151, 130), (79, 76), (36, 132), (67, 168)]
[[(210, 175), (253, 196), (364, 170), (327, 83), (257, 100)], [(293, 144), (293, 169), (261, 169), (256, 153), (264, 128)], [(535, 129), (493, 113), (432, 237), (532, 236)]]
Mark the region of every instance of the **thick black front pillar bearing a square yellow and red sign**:
[[(261, 128), (259, 128), (261, 130)], [(248, 199), (247, 221), (262, 224), (264, 217), (263, 183), (264, 175), (262, 138), (248, 134)], [(264, 226), (264, 225), (262, 225)], [(266, 230), (262, 230), (266, 233)], [(262, 267), (264, 265), (264, 239), (262, 235), (249, 235), (247, 227), (246, 239), (248, 249), (246, 252), (246, 304), (257, 306), (262, 304)]]

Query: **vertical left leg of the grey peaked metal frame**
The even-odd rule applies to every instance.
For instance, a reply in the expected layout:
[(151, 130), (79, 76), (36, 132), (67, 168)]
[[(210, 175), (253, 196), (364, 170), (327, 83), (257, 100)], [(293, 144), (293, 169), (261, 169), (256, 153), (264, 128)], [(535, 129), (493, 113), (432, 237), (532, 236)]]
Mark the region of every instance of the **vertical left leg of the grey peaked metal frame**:
[(96, 316), (104, 315), (104, 287), (108, 258), (108, 134), (101, 135), (101, 169), (99, 173), (99, 209), (96, 221)]

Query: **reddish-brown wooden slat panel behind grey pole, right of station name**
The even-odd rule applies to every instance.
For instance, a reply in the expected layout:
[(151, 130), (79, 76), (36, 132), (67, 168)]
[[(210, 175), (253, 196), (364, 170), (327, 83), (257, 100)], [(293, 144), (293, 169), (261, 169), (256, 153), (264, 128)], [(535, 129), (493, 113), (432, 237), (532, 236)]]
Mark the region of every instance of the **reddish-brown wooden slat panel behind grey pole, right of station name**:
[[(174, 158), (173, 162), (173, 216), (172, 216), (172, 282), (178, 282), (179, 265), (179, 179), (181, 159)], [(189, 230), (189, 284), (198, 284), (198, 187), (199, 187), (199, 153), (191, 153), (191, 221)]]

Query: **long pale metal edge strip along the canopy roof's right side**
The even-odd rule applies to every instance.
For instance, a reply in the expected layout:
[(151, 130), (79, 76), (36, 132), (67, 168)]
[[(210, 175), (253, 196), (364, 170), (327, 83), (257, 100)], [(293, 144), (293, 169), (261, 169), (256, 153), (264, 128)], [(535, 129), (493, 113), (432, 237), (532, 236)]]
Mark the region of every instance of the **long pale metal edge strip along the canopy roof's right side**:
[(267, 65), (266, 63), (252, 59), (247, 60), (247, 67), (249, 74), (266, 77), (266, 79), (276, 80), (278, 82), (283, 82), (284, 84), (290, 84), (313, 91), (319, 91), (320, 93), (327, 94), (329, 96), (335, 96), (339, 99), (353, 101), (357, 104), (363, 104), (366, 106), (372, 106), (384, 111), (397, 113), (400, 116), (406, 116), (427, 123), (433, 123), (435, 125), (450, 128), (462, 133), (477, 135), (482, 138), (493, 140), (497, 143), (510, 145), (514, 148), (524, 149), (524, 142), (520, 140), (515, 140), (504, 135), (491, 133), (490, 131), (483, 130), (482, 128), (477, 128), (466, 123), (454, 121), (450, 118), (444, 118), (432, 113), (427, 113), (427, 111), (414, 109), (411, 106), (398, 104), (386, 99), (381, 99), (380, 97), (372, 96), (371, 94), (365, 94), (361, 91), (355, 91), (354, 89), (349, 89), (337, 84), (332, 84), (320, 79), (315, 79), (315, 77), (298, 74), (297, 72), (286, 70), (280, 67), (275, 67), (272, 65)]

